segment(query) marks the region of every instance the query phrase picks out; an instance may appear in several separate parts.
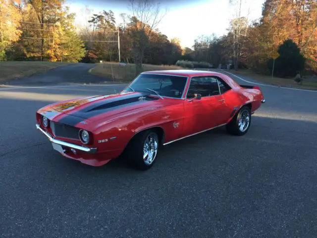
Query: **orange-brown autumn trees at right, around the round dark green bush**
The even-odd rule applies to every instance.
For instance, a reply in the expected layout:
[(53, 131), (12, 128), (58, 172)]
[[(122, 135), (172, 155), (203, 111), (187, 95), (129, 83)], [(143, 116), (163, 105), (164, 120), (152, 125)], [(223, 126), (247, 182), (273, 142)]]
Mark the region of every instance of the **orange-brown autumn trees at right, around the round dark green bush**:
[(316, 0), (265, 0), (262, 16), (252, 22), (248, 14), (242, 15), (241, 9), (246, 7), (244, 1), (230, 2), (235, 14), (228, 33), (212, 44), (210, 38), (198, 37), (194, 44), (195, 53), (192, 54), (194, 60), (205, 58), (214, 61), (211, 59), (220, 52), (220, 61), (232, 63), (235, 69), (251, 67), (261, 73), (271, 73), (268, 67), (271, 54), (279, 50), (286, 40), (292, 40), (307, 59), (306, 68), (317, 72)]

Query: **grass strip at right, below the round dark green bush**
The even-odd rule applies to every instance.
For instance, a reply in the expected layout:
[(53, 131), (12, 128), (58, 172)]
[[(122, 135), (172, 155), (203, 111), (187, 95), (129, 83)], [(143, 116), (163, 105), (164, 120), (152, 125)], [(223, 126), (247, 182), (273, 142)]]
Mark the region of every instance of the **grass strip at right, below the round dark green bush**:
[(246, 70), (229, 70), (231, 73), (239, 73), (241, 75), (246, 75), (251, 78), (254, 78), (260, 82), (267, 83), (267, 84), (273, 84), (281, 87), (290, 87), (290, 88), (302, 88), (302, 89), (317, 89), (317, 82), (308, 82), (308, 81), (303, 81), (302, 85), (297, 84), (294, 79), (292, 78), (279, 78), (279, 77), (274, 77), (271, 78), (269, 75), (262, 75), (262, 74), (257, 74), (254, 73), (248, 69)]

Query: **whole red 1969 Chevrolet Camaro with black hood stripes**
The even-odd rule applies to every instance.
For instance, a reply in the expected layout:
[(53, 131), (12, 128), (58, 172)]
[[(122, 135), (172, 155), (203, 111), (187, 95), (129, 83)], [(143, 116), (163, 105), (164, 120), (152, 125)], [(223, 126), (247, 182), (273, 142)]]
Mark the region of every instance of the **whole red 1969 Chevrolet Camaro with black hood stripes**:
[(65, 157), (102, 166), (123, 155), (145, 170), (161, 145), (222, 125), (244, 135), (264, 102), (260, 87), (222, 73), (149, 71), (120, 93), (48, 105), (36, 112), (36, 127)]

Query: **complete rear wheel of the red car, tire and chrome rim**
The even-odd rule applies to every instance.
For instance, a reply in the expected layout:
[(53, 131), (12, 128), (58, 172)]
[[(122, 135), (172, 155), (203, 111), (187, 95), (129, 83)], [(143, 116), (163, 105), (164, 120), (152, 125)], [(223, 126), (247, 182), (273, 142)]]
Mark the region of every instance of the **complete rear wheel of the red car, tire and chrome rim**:
[(251, 125), (251, 110), (243, 106), (226, 125), (227, 131), (233, 135), (244, 135)]

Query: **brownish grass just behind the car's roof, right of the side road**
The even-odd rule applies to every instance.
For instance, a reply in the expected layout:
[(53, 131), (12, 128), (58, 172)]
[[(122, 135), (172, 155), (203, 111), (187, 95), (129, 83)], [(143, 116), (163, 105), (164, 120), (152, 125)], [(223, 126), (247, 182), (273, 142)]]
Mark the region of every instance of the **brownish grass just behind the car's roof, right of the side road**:
[[(135, 78), (135, 64), (129, 63), (125, 67), (119, 67), (118, 62), (105, 62), (99, 63), (96, 67), (90, 70), (90, 73), (104, 76), (108, 79), (112, 79), (111, 73), (111, 64), (113, 71), (114, 81), (117, 83), (126, 83), (131, 82)], [(166, 69), (183, 69), (182, 67), (178, 67), (176, 65), (152, 65), (152, 64), (143, 64), (144, 71), (152, 71), (152, 70), (166, 70)]]

